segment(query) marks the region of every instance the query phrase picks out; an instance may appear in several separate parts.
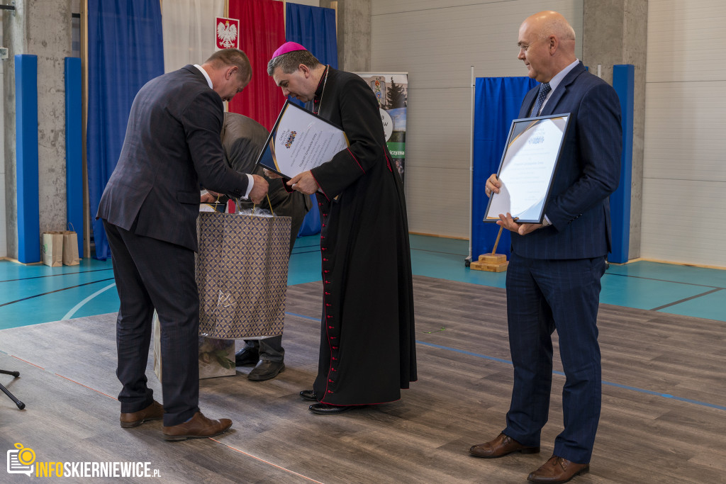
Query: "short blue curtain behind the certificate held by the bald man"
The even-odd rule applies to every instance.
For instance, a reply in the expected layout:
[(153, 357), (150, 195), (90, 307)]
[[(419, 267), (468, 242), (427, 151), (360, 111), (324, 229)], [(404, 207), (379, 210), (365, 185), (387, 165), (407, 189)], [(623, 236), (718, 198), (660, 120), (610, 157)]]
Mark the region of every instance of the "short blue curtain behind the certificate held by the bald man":
[[(484, 193), (486, 179), (497, 173), (512, 120), (519, 115), (522, 99), (537, 81), (521, 78), (477, 78), (474, 99), (474, 160), (471, 216), (471, 260), (491, 253), (497, 240), (499, 226), (484, 223), (489, 198)], [(498, 254), (510, 254), (512, 239), (502, 231), (497, 245)]]

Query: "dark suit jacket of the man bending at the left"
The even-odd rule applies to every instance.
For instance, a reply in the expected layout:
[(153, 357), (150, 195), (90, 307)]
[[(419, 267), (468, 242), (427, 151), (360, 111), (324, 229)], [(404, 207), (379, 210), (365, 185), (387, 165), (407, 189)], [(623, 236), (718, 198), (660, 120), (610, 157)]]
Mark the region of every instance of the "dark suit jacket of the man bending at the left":
[(197, 250), (200, 184), (241, 197), (248, 178), (224, 163), (224, 108), (197, 67), (146, 83), (134, 98), (121, 157), (97, 217)]

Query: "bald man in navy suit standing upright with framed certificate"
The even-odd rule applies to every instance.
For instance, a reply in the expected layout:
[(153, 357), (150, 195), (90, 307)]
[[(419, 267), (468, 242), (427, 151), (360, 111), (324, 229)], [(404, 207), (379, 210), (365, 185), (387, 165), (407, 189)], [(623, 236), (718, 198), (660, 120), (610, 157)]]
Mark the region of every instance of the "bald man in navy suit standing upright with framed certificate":
[[(514, 388), (505, 430), (470, 453), (494, 458), (539, 452), (557, 329), (566, 374), (565, 428), (552, 457), (528, 480), (564, 483), (589, 470), (600, 419), (597, 308), (611, 250), (608, 196), (620, 177), (620, 104), (614, 89), (576, 59), (574, 30), (557, 12), (527, 18), (518, 46), (529, 77), (542, 83), (526, 95), (519, 117), (569, 113), (570, 118), (543, 223), (517, 223), (509, 213), (497, 221), (512, 232), (507, 319)], [(500, 187), (493, 174), (486, 194), (499, 193)]]

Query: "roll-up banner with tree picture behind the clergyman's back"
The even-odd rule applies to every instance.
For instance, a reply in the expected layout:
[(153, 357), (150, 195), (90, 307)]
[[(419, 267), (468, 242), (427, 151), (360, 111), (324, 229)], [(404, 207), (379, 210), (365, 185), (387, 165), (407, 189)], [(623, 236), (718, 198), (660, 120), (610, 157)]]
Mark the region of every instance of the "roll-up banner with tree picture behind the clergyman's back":
[(408, 104), (408, 73), (356, 73), (363, 78), (380, 108), (380, 120), (393, 162), (404, 178), (406, 160), (406, 106)]

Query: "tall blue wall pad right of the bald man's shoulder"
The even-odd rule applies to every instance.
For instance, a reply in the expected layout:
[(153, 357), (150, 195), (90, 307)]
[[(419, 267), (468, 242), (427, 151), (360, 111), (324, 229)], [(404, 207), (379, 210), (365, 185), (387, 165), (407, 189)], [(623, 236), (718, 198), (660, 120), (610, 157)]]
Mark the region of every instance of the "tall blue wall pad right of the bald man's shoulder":
[(613, 251), (608, 261), (628, 261), (630, 240), (630, 187), (632, 184), (633, 159), (633, 107), (635, 92), (635, 66), (613, 66), (613, 88), (620, 98), (623, 123), (623, 155), (621, 157), (620, 184), (610, 196), (610, 213), (613, 232)]

